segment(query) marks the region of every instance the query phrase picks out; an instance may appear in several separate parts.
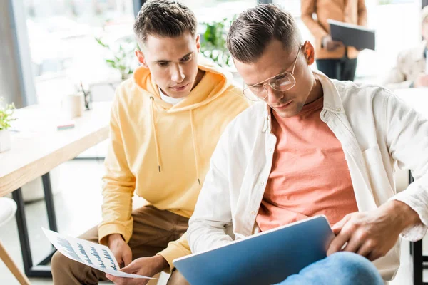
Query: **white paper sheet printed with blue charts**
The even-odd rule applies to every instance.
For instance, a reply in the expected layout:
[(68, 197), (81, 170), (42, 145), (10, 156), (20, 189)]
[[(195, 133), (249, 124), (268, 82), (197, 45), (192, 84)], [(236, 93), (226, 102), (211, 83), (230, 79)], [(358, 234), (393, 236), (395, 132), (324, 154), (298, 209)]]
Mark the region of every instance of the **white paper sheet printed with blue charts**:
[(48, 237), (49, 242), (54, 244), (54, 247), (69, 259), (117, 277), (153, 279), (119, 271), (118, 261), (116, 261), (111, 250), (104, 245), (88, 242), (84, 239), (76, 239), (75, 237), (67, 237), (43, 227), (41, 229)]

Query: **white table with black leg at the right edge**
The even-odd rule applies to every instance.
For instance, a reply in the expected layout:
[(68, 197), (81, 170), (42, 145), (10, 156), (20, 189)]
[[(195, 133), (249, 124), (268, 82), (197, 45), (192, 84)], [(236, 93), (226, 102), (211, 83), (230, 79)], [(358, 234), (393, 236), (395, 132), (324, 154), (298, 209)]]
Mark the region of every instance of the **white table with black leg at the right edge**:
[[(428, 88), (397, 89), (394, 93), (428, 119)], [(412, 173), (409, 171), (409, 184), (412, 182)], [(424, 262), (428, 262), (428, 257), (422, 252), (422, 239), (419, 242), (411, 242), (410, 247), (413, 259), (413, 284), (428, 285), (423, 281), (424, 269), (428, 268)]]

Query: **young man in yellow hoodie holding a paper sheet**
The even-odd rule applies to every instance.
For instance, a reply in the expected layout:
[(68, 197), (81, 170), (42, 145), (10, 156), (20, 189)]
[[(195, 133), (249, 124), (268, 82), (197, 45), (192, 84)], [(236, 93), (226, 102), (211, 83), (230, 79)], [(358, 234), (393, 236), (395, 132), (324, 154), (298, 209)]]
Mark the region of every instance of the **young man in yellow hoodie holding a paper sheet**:
[[(198, 58), (195, 15), (176, 1), (147, 1), (134, 31), (141, 66), (116, 91), (103, 177), (103, 222), (83, 239), (106, 244), (122, 270), (187, 284), (173, 259), (190, 254), (185, 231), (225, 126), (248, 107), (240, 89)], [(132, 211), (136, 193), (148, 205)], [(64, 257), (52, 259), (54, 284), (97, 284), (106, 275)], [(117, 284), (142, 279), (107, 276)]]

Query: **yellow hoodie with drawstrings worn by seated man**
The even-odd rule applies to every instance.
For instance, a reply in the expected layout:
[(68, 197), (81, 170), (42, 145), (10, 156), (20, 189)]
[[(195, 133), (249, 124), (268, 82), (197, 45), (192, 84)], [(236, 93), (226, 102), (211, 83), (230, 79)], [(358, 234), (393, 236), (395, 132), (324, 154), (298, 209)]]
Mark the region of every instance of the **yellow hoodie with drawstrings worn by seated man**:
[[(134, 190), (158, 209), (188, 218), (193, 214), (221, 133), (248, 107), (223, 71), (199, 62), (205, 75), (176, 105), (161, 100), (143, 67), (116, 90), (98, 227), (101, 244), (109, 234), (121, 234), (126, 242), (131, 238)], [(159, 254), (172, 269), (173, 259), (190, 254), (185, 236)]]

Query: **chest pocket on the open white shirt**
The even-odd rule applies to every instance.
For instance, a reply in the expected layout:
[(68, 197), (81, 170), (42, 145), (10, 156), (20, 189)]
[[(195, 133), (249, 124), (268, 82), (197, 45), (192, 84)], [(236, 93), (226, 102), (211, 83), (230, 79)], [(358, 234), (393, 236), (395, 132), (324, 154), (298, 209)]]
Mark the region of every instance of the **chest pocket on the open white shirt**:
[(379, 145), (370, 147), (362, 152), (362, 155), (365, 159), (367, 170), (369, 170), (370, 185), (372, 186), (373, 195), (375, 195), (378, 205), (383, 204), (394, 195), (395, 186), (391, 185), (389, 182)]

